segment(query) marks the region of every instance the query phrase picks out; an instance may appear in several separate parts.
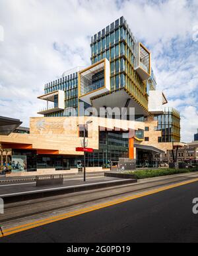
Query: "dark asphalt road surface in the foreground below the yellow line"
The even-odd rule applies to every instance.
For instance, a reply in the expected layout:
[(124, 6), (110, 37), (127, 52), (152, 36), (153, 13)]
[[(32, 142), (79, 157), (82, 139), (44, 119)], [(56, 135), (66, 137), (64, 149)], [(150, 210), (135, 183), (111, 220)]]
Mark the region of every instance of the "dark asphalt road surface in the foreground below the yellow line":
[(197, 242), (192, 200), (198, 182), (170, 188), (67, 220), (3, 237), (0, 242)]

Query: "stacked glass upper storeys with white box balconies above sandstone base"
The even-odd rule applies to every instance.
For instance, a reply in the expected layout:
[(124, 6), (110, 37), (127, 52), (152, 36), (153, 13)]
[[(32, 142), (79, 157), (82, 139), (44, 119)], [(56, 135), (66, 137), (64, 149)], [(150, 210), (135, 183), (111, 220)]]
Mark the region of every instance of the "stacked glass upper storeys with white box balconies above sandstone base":
[[(78, 67), (45, 86), (46, 117), (68, 116), (71, 109), (135, 108), (135, 115), (163, 114), (168, 101), (156, 90), (150, 51), (121, 17), (91, 37), (91, 66)], [(52, 105), (51, 105), (51, 103)], [(92, 111), (90, 111), (92, 113)], [(73, 115), (73, 114), (71, 114)]]

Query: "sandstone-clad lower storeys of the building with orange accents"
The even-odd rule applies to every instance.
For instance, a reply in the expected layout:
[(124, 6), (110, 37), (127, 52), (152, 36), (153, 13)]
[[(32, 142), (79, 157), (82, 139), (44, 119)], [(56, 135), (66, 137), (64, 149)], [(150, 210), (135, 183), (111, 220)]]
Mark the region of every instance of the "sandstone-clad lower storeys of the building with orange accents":
[(152, 166), (172, 149), (172, 143), (158, 143), (161, 131), (154, 129), (156, 124), (152, 117), (145, 122), (94, 116), (32, 117), (29, 134), (1, 135), (0, 143), (3, 151), (9, 151), (12, 172), (17, 173), (75, 172), (83, 166), (84, 153), (76, 148), (82, 147), (84, 136), (86, 147), (94, 150), (85, 153), (89, 171), (111, 168), (120, 158), (135, 159), (137, 166)]

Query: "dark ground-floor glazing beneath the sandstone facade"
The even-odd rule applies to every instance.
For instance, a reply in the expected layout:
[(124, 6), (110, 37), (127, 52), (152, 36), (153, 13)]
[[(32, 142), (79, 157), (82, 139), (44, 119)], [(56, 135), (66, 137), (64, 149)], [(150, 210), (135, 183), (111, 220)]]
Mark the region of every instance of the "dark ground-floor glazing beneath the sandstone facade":
[[(82, 131), (81, 136), (83, 135), (84, 133)], [(111, 162), (118, 162), (119, 157), (128, 157), (128, 147), (128, 133), (119, 131), (100, 131), (99, 149), (95, 150), (94, 153), (85, 153), (86, 166), (110, 167)], [(69, 168), (77, 168), (77, 161), (83, 163), (83, 155), (37, 155), (34, 150), (19, 149), (13, 149), (13, 155), (25, 155), (27, 157), (27, 171), (36, 171), (37, 168), (65, 170)]]

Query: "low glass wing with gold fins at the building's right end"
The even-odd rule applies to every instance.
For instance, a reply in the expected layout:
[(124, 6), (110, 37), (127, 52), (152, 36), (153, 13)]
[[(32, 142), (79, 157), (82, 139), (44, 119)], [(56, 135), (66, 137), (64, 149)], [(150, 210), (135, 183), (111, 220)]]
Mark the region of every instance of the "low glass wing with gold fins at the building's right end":
[(158, 131), (162, 131), (162, 137), (158, 142), (180, 142), (180, 113), (176, 109), (168, 109), (162, 115), (154, 115), (158, 121)]

